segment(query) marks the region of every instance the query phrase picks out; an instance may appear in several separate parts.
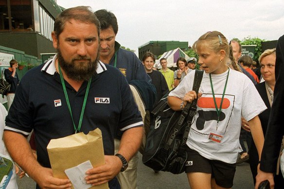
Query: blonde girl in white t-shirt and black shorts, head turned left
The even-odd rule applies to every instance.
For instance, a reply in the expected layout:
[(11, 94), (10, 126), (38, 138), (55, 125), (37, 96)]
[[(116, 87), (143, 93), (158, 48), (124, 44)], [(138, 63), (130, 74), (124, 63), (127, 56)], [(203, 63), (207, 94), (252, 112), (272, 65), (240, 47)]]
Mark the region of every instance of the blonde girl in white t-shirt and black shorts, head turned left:
[(185, 172), (191, 189), (228, 189), (233, 185), (236, 169), (241, 117), (248, 120), (260, 154), (264, 136), (258, 114), (266, 106), (249, 78), (227, 66), (230, 50), (223, 34), (207, 32), (193, 49), (204, 69), (198, 94), (192, 90), (193, 70), (171, 91), (168, 104), (179, 111), (198, 97), (187, 139)]

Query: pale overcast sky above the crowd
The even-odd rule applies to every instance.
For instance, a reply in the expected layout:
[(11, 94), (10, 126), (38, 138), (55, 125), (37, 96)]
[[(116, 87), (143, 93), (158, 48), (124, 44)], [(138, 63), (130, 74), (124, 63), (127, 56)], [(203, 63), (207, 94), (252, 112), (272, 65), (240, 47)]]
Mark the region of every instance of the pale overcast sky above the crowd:
[(284, 0), (57, 0), (57, 4), (112, 11), (119, 26), (116, 40), (136, 53), (151, 40), (192, 45), (214, 30), (228, 39), (277, 40), (284, 34)]

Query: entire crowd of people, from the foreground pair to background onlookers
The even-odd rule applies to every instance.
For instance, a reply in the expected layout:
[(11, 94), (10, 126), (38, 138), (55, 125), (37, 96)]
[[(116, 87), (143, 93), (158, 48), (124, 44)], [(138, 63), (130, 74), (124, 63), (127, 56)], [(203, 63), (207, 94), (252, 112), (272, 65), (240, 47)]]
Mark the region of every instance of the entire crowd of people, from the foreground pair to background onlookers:
[[(278, 161), (284, 135), (280, 120), (284, 36), (276, 49), (261, 54), (257, 69), (249, 56), (242, 56), (239, 42), (207, 32), (193, 44), (198, 60), (179, 57), (173, 71), (165, 58), (160, 59), (161, 69), (155, 70), (153, 53), (146, 52), (141, 62), (120, 48), (117, 33), (117, 19), (107, 10), (66, 9), (54, 22), (53, 59), (28, 71), (20, 82), (18, 63), (10, 62), (5, 78), (13, 87), (7, 95), (7, 116), (1, 107), (0, 134), (23, 170), (21, 176), (27, 173), (36, 188), (71, 189), (70, 179), (53, 176), (46, 147), (51, 139), (99, 128), (106, 163), (87, 170), (86, 183), (137, 189), (138, 149), (146, 119), (129, 86), (135, 84), (147, 111), (169, 91), (168, 104), (175, 111), (198, 98), (186, 150), (187, 161), (194, 162), (185, 167), (191, 189), (232, 188), (236, 165), (248, 159), (256, 189), (266, 179), (271, 189), (284, 186)], [(204, 72), (196, 94), (197, 64)], [(1, 145), (4, 148), (2, 140)], [(15, 182), (14, 175), (7, 189), (15, 189)]]

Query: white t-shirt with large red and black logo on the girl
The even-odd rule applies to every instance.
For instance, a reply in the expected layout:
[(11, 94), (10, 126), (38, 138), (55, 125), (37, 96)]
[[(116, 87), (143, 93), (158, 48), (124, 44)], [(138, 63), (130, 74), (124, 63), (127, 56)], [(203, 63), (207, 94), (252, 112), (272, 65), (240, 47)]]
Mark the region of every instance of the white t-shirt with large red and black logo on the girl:
[[(229, 69), (228, 69), (229, 70)], [(228, 70), (222, 74), (211, 74), (218, 109)], [(183, 99), (193, 88), (195, 70), (191, 71), (169, 96)], [(228, 84), (217, 125), (217, 111), (208, 73), (203, 74), (199, 88), (202, 93), (197, 101), (197, 110), (187, 139), (187, 145), (205, 158), (235, 163), (238, 155), (241, 116), (251, 120), (266, 109), (266, 105), (249, 78), (230, 69)], [(216, 131), (217, 128), (217, 131)], [(221, 142), (209, 139), (211, 133), (223, 136)]]

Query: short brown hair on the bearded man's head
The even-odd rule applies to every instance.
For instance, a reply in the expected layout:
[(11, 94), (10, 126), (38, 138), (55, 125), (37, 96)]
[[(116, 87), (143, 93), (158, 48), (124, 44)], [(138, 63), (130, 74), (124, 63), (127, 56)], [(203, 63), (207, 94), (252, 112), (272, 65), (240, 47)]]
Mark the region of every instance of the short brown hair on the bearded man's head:
[(56, 17), (54, 22), (54, 34), (57, 38), (62, 33), (66, 22), (71, 19), (95, 24), (98, 34), (100, 35), (100, 22), (91, 11), (91, 8), (89, 6), (77, 6), (64, 10), (58, 15), (58, 17)]

